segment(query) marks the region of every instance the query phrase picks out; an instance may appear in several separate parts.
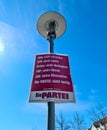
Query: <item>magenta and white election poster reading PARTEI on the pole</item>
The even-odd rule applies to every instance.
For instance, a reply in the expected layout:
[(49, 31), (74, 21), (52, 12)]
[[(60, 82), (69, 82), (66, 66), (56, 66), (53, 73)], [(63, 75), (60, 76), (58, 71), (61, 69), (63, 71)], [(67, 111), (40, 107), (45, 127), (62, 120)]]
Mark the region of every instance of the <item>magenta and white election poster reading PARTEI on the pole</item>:
[(75, 102), (67, 55), (36, 55), (29, 102)]

